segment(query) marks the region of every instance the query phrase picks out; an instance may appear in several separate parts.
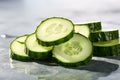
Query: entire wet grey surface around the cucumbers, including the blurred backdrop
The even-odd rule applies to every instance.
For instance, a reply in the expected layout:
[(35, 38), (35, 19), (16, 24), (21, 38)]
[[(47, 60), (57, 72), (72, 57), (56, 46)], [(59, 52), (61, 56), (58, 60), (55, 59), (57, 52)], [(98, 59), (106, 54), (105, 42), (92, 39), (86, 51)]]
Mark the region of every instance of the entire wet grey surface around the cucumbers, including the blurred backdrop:
[(0, 0), (0, 80), (119, 80), (120, 56), (94, 57), (88, 65), (76, 68), (9, 59), (9, 44), (14, 37), (34, 32), (47, 17), (62, 16), (74, 23), (97, 20), (102, 21), (104, 28), (120, 29), (119, 3), (118, 0)]

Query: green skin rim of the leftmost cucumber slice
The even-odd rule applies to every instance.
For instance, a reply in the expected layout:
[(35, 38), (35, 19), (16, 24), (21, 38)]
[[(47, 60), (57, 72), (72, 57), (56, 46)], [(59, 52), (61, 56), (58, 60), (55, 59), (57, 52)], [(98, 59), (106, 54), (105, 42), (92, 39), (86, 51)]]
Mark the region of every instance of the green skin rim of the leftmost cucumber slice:
[[(20, 60), (20, 61), (31, 61), (31, 60), (32, 60), (29, 56), (17, 55), (17, 54), (14, 53), (14, 52), (12, 51), (12, 49), (11, 49), (12, 43), (13, 43), (16, 39), (18, 39), (18, 38), (20, 38), (20, 37), (24, 37), (24, 36), (27, 36), (27, 34), (15, 38), (15, 39), (10, 43), (10, 58), (15, 59), (15, 60)], [(21, 44), (23, 44), (23, 43), (24, 43), (24, 42), (21, 42)]]

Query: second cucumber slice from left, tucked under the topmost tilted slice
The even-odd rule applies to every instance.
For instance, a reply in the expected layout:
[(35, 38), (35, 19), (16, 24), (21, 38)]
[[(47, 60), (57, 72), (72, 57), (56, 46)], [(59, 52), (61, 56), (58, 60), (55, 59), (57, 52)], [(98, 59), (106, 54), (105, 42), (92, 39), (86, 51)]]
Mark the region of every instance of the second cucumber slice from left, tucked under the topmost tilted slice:
[(40, 44), (38, 44), (35, 34), (29, 35), (25, 41), (25, 44), (27, 48), (26, 49), (27, 54), (31, 58), (47, 59), (52, 55), (51, 51), (53, 47), (51, 46), (45, 47), (45, 46), (41, 46)]

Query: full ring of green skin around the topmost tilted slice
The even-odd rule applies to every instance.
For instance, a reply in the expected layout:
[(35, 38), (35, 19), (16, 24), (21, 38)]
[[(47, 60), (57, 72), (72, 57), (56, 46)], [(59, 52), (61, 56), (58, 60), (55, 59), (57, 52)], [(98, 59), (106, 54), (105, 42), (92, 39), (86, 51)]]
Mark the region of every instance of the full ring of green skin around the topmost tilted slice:
[[(68, 21), (71, 22), (71, 24), (73, 25), (73, 28), (74, 28), (74, 24), (73, 24), (72, 21), (69, 20), (69, 19), (62, 18), (62, 17), (51, 17), (51, 18), (61, 18), (61, 19), (64, 19), (64, 20), (68, 20)], [(43, 20), (41, 23), (43, 23), (43, 22), (45, 22), (46, 20), (49, 20), (49, 19), (51, 19), (51, 18), (47, 18), (47, 19)], [(41, 25), (41, 23), (38, 25), (35, 33), (37, 33), (37, 30), (38, 30), (39, 26)], [(56, 40), (56, 41), (51, 41), (51, 42), (46, 42), (46, 41), (40, 40), (40, 39), (37, 37), (37, 34), (36, 34), (36, 37), (37, 37), (37, 40), (38, 40), (38, 43), (39, 43), (39, 44), (41, 44), (41, 45), (43, 45), (43, 46), (53, 46), (53, 45), (58, 45), (58, 44), (61, 44), (61, 43), (64, 43), (64, 42), (68, 41), (69, 39), (71, 39), (71, 38), (73, 37), (73, 34), (74, 34), (74, 29), (73, 29), (73, 30), (71, 31), (71, 33), (70, 33), (69, 35), (67, 35), (66, 37), (61, 38), (61, 39), (58, 39), (58, 40)]]

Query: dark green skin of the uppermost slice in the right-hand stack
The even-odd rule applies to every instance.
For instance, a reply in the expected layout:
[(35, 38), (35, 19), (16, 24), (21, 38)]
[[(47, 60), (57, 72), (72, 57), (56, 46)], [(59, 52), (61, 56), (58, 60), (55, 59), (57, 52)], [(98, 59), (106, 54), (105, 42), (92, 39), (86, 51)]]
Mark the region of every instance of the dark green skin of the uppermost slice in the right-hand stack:
[(83, 24), (75, 24), (75, 25), (85, 25), (90, 28), (90, 32), (100, 31), (102, 29), (101, 22), (89, 22)]

